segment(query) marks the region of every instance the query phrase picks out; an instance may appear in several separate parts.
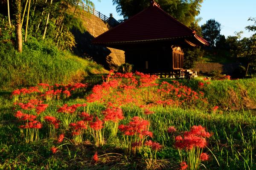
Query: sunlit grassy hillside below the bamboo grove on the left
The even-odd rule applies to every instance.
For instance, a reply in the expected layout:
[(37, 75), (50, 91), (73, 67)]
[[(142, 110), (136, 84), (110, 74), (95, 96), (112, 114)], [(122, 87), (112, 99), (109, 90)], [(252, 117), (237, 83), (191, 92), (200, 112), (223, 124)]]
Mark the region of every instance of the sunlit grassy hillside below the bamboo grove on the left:
[(0, 73), (0, 88), (8, 89), (40, 82), (78, 82), (84, 76), (107, 71), (95, 62), (58, 50), (51, 40), (46, 40), (24, 44), (22, 54), (12, 44), (1, 43)]

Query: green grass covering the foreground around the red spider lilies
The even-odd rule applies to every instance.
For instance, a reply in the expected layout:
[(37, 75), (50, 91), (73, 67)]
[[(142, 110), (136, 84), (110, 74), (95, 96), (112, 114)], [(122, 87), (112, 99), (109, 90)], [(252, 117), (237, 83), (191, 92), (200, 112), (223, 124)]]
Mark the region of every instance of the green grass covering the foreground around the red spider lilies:
[[(86, 80), (96, 83), (95, 77)], [(164, 79), (168, 80), (168, 79)], [(198, 81), (182, 80), (194, 90), (198, 89)], [(228, 100), (228, 91), (233, 89), (239, 94), (240, 87), (248, 91), (251, 99), (255, 97), (254, 82), (256, 79), (240, 79), (235, 81), (211, 81), (205, 88), (205, 94), (209, 105), (220, 104), (220, 101)], [(200, 89), (201, 90), (201, 89)], [(13, 102), (9, 98), (10, 91), (0, 92), (0, 169), (144, 169), (145, 163), (140, 154), (135, 156), (125, 154), (122, 135), (119, 132), (117, 138), (107, 138), (103, 147), (95, 148), (91, 144), (74, 145), (68, 139), (59, 149), (60, 152), (52, 154), (50, 148), (58, 146), (54, 140), (48, 139), (47, 128), (40, 131), (39, 142), (25, 143), (20, 139), (20, 132), (17, 121), (13, 116)], [(63, 104), (84, 103), (87, 93), (77, 95), (70, 99), (49, 101), (50, 105), (45, 115), (58, 117), (60, 113), (56, 110)], [(224, 99), (222, 99), (224, 98)], [(254, 98), (255, 99), (255, 98)], [(212, 103), (211, 103), (212, 102)], [(215, 103), (214, 103), (215, 102)], [(211, 106), (210, 106), (211, 107)], [(88, 112), (99, 114), (105, 106), (102, 104), (90, 104)], [(122, 106), (125, 119), (121, 124), (126, 124), (133, 116), (145, 116), (143, 110), (137, 106)], [(189, 130), (192, 125), (202, 125), (207, 131), (212, 132), (212, 137), (204, 152), (207, 152), (211, 159), (203, 162), (207, 169), (211, 170), (253, 170), (255, 168), (255, 147), (256, 147), (256, 116), (250, 110), (220, 109), (212, 112), (207, 108), (200, 108), (195, 105), (192, 108), (155, 107), (154, 114), (149, 118), (149, 130), (154, 133), (153, 140), (163, 144), (163, 149), (157, 152), (158, 165), (161, 169), (176, 170), (179, 165), (179, 155), (173, 147), (174, 138), (167, 133), (169, 126), (175, 126), (177, 131)], [(78, 118), (77, 118), (78, 119)], [(63, 132), (63, 131), (62, 131)], [(58, 133), (61, 133), (60, 131)], [(67, 138), (71, 139), (69, 132)], [(92, 142), (90, 137), (84, 140)], [(97, 150), (100, 157), (98, 163), (91, 159)], [(109, 153), (109, 155), (105, 155)], [(119, 155), (121, 154), (121, 155)], [(185, 153), (183, 153), (185, 154)], [(204, 169), (203, 166), (201, 166)]]

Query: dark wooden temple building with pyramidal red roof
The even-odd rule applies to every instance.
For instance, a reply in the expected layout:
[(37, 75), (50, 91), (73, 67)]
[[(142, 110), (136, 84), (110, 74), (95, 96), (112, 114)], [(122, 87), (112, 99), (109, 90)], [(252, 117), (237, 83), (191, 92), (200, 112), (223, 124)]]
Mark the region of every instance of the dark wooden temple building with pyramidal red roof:
[(208, 45), (195, 31), (151, 6), (99, 35), (93, 43), (125, 51), (125, 62), (143, 73), (183, 73), (183, 48)]

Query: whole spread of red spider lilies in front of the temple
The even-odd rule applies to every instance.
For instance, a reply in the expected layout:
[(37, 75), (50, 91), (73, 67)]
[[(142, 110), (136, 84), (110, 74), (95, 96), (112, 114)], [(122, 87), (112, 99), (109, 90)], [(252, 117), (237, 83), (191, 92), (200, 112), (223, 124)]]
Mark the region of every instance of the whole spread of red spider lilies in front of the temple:
[[(198, 85), (200, 88), (204, 87), (204, 83)], [(45, 137), (55, 139), (57, 143), (63, 142), (66, 136), (76, 144), (89, 139), (95, 147), (104, 145), (106, 138), (122, 136), (126, 153), (135, 154), (150, 150), (151, 154), (145, 160), (148, 168), (152, 168), (154, 160), (157, 159), (157, 151), (163, 148), (160, 143), (152, 141), (154, 134), (150, 131), (150, 115), (154, 114), (154, 108), (207, 103), (202, 91), (193, 91), (177, 81), (157, 83), (157, 76), (154, 75), (140, 72), (114, 74), (110, 71), (108, 76), (103, 77), (102, 84), (93, 87), (92, 93), (86, 96), (84, 103), (66, 103), (56, 108), (52, 107), (53, 100), (67, 101), (68, 97), (76, 92), (85, 91), (86, 88), (87, 84), (82, 83), (40, 83), (35, 87), (13, 91), (12, 98), (15, 102), (15, 117), (19, 120), (20, 136), (26, 142), (38, 141), (39, 129), (44, 129), (41, 136), (46, 134)], [(92, 109), (94, 105), (103, 105), (104, 109), (95, 111)], [(122, 110), (125, 106), (137, 107), (144, 116), (134, 116), (130, 122), (121, 124), (125, 119)], [(175, 127), (169, 127), (166, 133), (167, 131), (173, 135), (179, 134)], [(209, 136), (204, 127), (193, 126), (190, 132), (184, 132), (183, 137), (175, 138), (175, 147), (178, 150), (190, 150), (188, 155), (190, 152), (200, 153), (200, 156), (195, 157), (194, 160), (197, 162), (194, 163), (186, 164), (181, 158), (183, 169), (186, 166), (194, 166), (197, 169), (198, 162), (207, 160), (207, 154), (202, 153), (202, 148), (206, 145), (205, 138)], [(56, 153), (58, 147), (53, 146), (51, 150), (52, 153)], [(97, 153), (93, 158), (98, 161)], [(188, 157), (189, 159), (192, 157)]]

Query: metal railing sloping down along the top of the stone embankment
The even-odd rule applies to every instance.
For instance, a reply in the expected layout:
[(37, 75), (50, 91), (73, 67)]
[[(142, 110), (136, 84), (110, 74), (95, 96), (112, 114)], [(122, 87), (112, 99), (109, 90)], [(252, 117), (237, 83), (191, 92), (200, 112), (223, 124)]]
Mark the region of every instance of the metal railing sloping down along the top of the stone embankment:
[(111, 26), (116, 26), (118, 23), (116, 23), (116, 20), (112, 20), (109, 17), (106, 17), (106, 15), (100, 13), (99, 11), (96, 11), (95, 8), (92, 8), (91, 6), (85, 4), (85, 3), (78, 3), (79, 6), (83, 8), (83, 10), (87, 11), (90, 14), (95, 15), (96, 17), (99, 17), (104, 22), (108, 23)]

